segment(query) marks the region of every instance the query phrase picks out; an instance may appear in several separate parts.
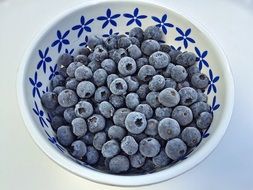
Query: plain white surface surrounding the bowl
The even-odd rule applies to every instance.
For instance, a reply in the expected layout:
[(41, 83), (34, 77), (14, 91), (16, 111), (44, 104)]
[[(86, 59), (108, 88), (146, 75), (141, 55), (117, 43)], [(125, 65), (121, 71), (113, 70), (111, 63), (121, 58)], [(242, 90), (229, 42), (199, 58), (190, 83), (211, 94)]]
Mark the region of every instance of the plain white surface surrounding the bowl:
[[(0, 0), (1, 190), (121, 189), (82, 179), (51, 161), (32, 141), (18, 108), (16, 73), (25, 49), (52, 18), (80, 2)], [(253, 2), (156, 2), (195, 18), (219, 41), (233, 71), (235, 105), (223, 140), (206, 160), (172, 180), (134, 189), (253, 189)]]

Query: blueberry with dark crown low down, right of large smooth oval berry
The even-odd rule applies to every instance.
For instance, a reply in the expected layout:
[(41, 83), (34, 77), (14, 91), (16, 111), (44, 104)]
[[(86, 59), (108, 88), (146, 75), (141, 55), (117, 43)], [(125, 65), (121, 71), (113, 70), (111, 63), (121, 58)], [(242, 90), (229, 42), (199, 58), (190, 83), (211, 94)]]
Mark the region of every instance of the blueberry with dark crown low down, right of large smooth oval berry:
[(184, 87), (178, 91), (180, 95), (180, 103), (189, 106), (198, 100), (198, 93), (191, 87)]

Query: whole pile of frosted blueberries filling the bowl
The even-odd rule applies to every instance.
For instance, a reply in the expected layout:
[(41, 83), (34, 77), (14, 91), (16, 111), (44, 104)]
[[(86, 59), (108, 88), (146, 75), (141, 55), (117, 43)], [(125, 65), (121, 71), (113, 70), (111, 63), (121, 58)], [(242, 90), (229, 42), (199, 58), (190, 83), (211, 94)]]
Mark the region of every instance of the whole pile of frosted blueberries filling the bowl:
[(91, 36), (73, 57), (59, 57), (41, 97), (69, 153), (110, 173), (147, 173), (182, 159), (213, 120), (208, 77), (191, 52), (160, 44), (155, 26)]

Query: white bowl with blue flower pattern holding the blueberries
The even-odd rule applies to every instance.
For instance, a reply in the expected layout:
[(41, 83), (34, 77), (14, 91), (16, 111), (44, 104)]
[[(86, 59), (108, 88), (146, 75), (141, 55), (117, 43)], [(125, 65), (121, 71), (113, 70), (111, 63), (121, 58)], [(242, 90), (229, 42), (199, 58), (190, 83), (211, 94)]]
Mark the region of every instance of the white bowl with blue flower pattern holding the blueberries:
[[(112, 175), (83, 166), (57, 142), (50, 127), (50, 117), (41, 106), (40, 96), (48, 90), (50, 79), (57, 74), (55, 63), (60, 54), (75, 54), (78, 48), (85, 46), (91, 34), (107, 36), (116, 32), (125, 33), (138, 25), (142, 28), (158, 25), (165, 34), (166, 42), (183, 51), (196, 52), (198, 65), (210, 78), (206, 93), (214, 120), (202, 134), (200, 145), (177, 164), (151, 174)], [(212, 152), (224, 135), (234, 99), (233, 79), (227, 59), (207, 31), (167, 7), (133, 0), (86, 2), (51, 22), (27, 49), (18, 72), (17, 91), (27, 129), (51, 159), (86, 179), (120, 186), (158, 183), (196, 166)]]

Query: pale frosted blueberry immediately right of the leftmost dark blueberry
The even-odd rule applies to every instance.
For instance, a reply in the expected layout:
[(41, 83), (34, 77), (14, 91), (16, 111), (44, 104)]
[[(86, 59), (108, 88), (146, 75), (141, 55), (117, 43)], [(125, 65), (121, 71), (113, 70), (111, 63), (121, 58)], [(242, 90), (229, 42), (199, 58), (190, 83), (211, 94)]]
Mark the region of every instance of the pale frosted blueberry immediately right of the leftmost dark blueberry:
[(78, 97), (73, 90), (65, 89), (58, 95), (58, 102), (62, 107), (71, 107), (78, 101)]

